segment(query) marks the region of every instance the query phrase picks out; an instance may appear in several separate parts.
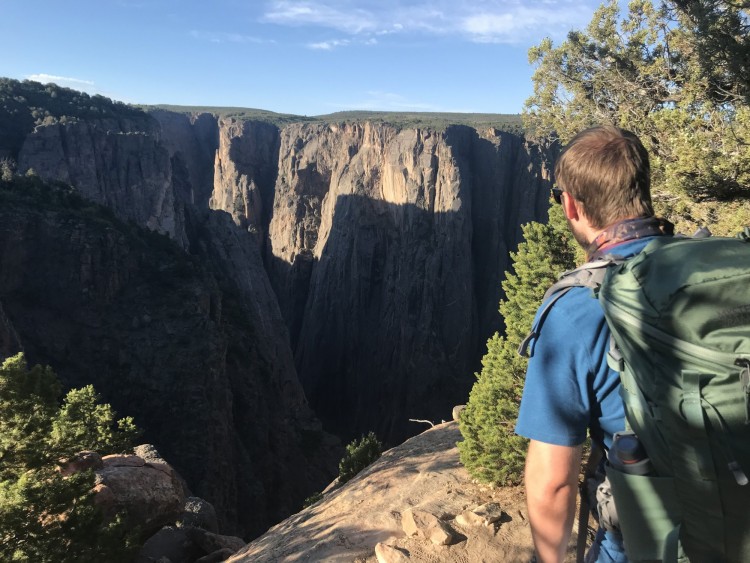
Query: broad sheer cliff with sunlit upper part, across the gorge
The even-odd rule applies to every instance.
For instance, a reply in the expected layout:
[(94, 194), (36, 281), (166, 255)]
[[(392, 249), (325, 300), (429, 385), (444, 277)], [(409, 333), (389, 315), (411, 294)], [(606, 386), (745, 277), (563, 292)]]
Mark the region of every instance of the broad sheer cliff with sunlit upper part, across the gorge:
[(281, 131), (268, 268), (326, 424), (397, 442), (465, 400), (499, 280), (547, 200), (512, 135), (387, 126)]

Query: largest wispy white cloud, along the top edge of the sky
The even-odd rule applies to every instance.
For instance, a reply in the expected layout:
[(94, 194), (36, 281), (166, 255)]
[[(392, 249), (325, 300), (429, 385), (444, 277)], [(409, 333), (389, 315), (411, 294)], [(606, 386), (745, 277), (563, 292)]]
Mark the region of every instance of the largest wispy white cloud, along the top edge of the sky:
[(599, 0), (267, 0), (263, 21), (351, 36), (426, 34), (474, 42), (538, 41), (590, 20)]

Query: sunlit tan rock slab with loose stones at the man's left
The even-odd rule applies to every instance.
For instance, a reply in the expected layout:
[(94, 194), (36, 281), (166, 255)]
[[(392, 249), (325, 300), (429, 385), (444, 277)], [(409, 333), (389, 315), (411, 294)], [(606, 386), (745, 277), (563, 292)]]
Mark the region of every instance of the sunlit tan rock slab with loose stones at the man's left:
[(455, 422), (410, 438), (228, 561), (529, 561), (523, 488), (478, 485), (460, 439)]

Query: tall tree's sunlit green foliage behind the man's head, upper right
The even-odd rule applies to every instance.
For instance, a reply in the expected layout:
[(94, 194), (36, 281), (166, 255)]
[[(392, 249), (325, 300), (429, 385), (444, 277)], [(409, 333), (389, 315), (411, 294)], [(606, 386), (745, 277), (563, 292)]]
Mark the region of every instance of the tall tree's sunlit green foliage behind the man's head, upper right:
[(661, 212), (710, 223), (716, 201), (734, 200), (750, 218), (748, 15), (731, 0), (632, 0), (621, 17), (608, 0), (585, 31), (529, 51), (530, 135), (564, 143), (596, 124), (629, 129), (652, 155)]

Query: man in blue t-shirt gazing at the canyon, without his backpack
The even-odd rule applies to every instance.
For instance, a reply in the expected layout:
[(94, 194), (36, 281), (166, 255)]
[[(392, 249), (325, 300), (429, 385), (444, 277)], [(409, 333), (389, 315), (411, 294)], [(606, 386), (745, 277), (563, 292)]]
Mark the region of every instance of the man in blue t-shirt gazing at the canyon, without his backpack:
[[(652, 237), (671, 234), (671, 225), (654, 217), (648, 153), (629, 131), (603, 126), (579, 133), (563, 149), (555, 181), (555, 200), (589, 260), (630, 257)], [(607, 367), (609, 330), (590, 289), (562, 296), (529, 350), (516, 432), (530, 439), (529, 519), (537, 559), (546, 563), (566, 554), (587, 430), (609, 447), (612, 434), (624, 429), (625, 411), (619, 376)], [(627, 561), (616, 532), (600, 531), (592, 551), (592, 561)]]

